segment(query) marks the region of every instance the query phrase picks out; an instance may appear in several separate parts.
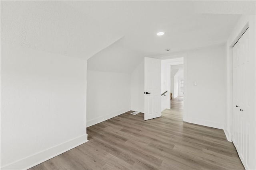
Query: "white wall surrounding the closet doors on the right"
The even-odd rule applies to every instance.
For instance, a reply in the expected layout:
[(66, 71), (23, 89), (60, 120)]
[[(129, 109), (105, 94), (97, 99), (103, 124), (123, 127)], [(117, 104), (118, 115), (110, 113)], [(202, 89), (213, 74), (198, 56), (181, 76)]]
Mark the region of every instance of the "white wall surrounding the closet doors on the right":
[[(252, 70), (252, 79), (254, 79), (254, 84), (250, 84), (252, 87), (254, 87), (253, 90), (250, 91), (251, 97), (253, 100), (250, 100), (250, 113), (248, 114), (250, 117), (250, 141), (249, 141), (249, 167), (246, 167), (248, 169), (256, 169), (256, 104), (255, 104), (255, 96), (256, 96), (256, 84), (255, 84), (255, 55), (256, 55), (256, 35), (255, 35), (255, 29), (256, 29), (256, 16), (255, 15), (242, 15), (238, 22), (236, 23), (233, 31), (230, 33), (230, 37), (228, 38), (228, 41), (226, 42), (226, 49), (225, 49), (225, 59), (226, 59), (226, 96), (227, 96), (227, 107), (226, 107), (226, 114), (225, 114), (225, 121), (224, 121), (224, 132), (228, 139), (228, 141), (232, 141), (232, 109), (234, 108), (232, 104), (232, 46), (238, 38), (244, 33), (247, 27), (249, 29), (249, 49), (250, 49), (250, 59), (254, 59), (254, 70)], [(249, 86), (250, 87), (250, 86)]]

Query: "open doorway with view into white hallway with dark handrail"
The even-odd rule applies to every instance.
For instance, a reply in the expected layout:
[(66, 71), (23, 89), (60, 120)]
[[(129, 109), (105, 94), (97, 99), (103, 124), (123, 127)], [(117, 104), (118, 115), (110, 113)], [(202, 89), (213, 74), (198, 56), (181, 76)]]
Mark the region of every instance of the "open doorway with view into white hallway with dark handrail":
[[(177, 108), (182, 110), (186, 121), (186, 54), (164, 57), (161, 61), (162, 111)], [(172, 95), (172, 100), (171, 100)]]

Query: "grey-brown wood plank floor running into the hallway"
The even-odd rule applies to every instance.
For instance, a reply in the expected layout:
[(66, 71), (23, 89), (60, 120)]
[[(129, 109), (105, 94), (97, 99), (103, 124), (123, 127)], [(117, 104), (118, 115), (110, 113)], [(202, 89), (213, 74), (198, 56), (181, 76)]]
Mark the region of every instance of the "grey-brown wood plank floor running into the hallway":
[(244, 169), (223, 130), (183, 122), (183, 101), (171, 104), (156, 119), (128, 111), (88, 127), (87, 143), (31, 170)]

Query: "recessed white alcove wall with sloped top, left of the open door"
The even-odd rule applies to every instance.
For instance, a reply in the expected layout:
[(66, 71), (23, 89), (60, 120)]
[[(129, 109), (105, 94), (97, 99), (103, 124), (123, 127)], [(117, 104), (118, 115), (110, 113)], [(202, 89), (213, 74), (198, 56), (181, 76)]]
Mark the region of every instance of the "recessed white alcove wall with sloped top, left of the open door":
[(143, 57), (117, 43), (87, 60), (87, 127), (131, 109), (131, 75)]

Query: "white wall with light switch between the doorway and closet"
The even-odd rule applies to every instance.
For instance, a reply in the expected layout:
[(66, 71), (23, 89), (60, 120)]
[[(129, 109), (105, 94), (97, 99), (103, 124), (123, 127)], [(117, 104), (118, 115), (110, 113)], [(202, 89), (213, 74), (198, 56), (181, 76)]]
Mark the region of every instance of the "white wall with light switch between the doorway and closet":
[[(224, 128), (226, 79), (224, 46), (187, 52), (187, 121)], [(193, 82), (197, 86), (193, 86)]]

